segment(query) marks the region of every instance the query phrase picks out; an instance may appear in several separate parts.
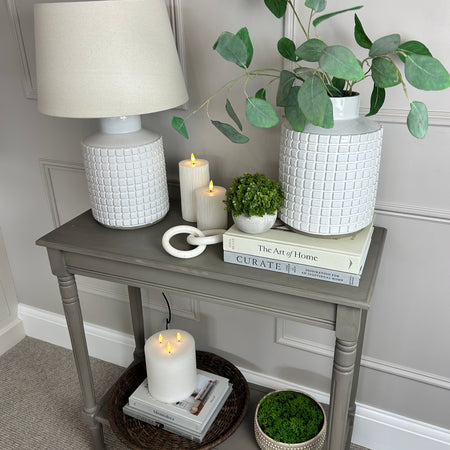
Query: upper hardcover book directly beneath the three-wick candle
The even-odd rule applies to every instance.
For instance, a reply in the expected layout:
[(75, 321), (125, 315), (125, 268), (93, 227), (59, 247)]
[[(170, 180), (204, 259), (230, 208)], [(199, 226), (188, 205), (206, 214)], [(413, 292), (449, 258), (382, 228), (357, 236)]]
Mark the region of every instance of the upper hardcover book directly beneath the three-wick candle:
[(158, 423), (201, 432), (229, 394), (229, 380), (220, 375), (197, 369), (197, 386), (190, 397), (176, 403), (163, 403), (154, 399), (148, 390), (146, 378), (128, 399), (129, 406), (140, 410)]

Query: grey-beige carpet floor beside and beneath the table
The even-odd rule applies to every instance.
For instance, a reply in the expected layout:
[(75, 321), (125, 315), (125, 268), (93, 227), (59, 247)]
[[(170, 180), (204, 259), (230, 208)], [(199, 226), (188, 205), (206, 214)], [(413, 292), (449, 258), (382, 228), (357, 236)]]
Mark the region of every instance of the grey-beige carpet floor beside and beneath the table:
[[(99, 398), (123, 368), (95, 358), (91, 358), (91, 365)], [(0, 357), (0, 398), (0, 450), (93, 448), (81, 420), (80, 388), (70, 350), (29, 337), (23, 339)], [(246, 419), (250, 414), (251, 408)], [(127, 448), (108, 426), (104, 434), (108, 450)], [(251, 435), (251, 418), (218, 448), (257, 449)], [(351, 450), (364, 449), (352, 445)]]

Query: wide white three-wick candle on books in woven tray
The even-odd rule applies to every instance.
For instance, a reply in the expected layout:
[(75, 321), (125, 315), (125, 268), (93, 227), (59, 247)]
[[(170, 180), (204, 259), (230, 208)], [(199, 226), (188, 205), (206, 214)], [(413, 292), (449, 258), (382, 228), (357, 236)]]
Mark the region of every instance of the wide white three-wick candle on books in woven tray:
[(182, 330), (164, 330), (145, 343), (150, 395), (165, 403), (188, 398), (197, 384), (195, 341)]

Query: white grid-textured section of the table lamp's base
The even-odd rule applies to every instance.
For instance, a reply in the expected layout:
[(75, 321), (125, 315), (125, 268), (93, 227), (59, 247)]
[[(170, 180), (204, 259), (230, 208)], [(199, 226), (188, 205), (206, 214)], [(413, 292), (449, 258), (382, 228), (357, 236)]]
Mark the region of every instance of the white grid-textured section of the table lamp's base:
[(161, 220), (169, 211), (162, 138), (136, 147), (83, 145), (94, 218), (110, 228), (133, 229)]

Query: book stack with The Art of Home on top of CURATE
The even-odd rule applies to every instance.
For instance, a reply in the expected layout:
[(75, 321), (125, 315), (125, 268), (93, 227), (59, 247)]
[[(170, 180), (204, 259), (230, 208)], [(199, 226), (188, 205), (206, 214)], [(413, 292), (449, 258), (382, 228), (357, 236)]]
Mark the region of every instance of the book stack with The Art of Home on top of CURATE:
[(359, 286), (373, 223), (341, 237), (296, 233), (278, 226), (260, 234), (233, 225), (223, 235), (224, 261), (333, 283)]

